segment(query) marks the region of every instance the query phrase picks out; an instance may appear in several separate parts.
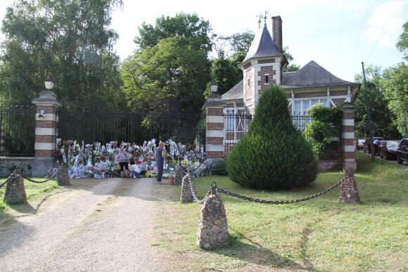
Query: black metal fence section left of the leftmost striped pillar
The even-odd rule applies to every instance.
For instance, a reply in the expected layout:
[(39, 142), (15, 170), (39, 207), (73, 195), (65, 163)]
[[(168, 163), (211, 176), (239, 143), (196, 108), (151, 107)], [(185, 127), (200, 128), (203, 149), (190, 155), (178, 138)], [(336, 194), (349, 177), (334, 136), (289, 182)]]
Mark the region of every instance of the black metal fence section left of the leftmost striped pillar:
[(0, 108), (0, 156), (34, 157), (35, 106)]

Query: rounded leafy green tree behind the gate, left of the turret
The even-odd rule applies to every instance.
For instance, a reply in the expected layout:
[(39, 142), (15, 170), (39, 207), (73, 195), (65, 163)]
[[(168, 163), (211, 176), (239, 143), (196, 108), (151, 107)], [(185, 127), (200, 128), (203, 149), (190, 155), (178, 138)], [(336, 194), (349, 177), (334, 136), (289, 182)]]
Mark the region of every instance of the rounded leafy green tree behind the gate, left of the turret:
[(122, 64), (122, 79), (140, 110), (163, 109), (168, 98), (175, 98), (183, 110), (201, 111), (210, 81), (209, 31), (207, 21), (184, 13), (139, 27), (138, 49)]

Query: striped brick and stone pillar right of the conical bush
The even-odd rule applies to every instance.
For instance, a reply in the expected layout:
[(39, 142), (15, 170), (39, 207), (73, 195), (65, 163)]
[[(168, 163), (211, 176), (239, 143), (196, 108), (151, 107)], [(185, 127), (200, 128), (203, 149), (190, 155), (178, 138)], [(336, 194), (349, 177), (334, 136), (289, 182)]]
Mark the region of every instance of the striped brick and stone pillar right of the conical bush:
[(352, 103), (344, 103), (343, 108), (343, 126), (341, 131), (341, 143), (343, 150), (344, 165), (343, 169), (352, 168), (357, 170), (355, 162), (355, 144), (354, 144), (354, 112), (355, 108)]

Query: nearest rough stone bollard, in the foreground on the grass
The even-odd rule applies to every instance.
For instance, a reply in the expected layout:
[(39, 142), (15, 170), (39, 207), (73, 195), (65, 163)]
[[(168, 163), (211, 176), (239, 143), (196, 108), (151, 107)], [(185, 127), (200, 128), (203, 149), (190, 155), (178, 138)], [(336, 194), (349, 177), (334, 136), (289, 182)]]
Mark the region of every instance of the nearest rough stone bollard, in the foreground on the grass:
[(215, 193), (209, 195), (201, 207), (197, 243), (203, 250), (229, 247), (227, 215), (221, 198)]

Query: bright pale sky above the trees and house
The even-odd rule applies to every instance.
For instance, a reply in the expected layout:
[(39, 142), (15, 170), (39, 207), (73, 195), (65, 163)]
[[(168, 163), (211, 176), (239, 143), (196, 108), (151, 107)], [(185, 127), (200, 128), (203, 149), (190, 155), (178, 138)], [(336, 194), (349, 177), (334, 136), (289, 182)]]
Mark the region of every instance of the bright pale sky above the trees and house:
[[(143, 22), (155, 25), (161, 16), (195, 13), (210, 22), (212, 32), (229, 36), (257, 32), (259, 15), (267, 13), (271, 34), (272, 16), (281, 16), (283, 47), (288, 46), (292, 63), (301, 67), (314, 60), (336, 77), (354, 82), (362, 63), (385, 69), (403, 61), (395, 44), (408, 21), (407, 0), (257, 0), (245, 5), (231, 0), (122, 1), (111, 25), (119, 34), (114, 50), (122, 60), (136, 47), (138, 27)], [(13, 0), (0, 3), (3, 20)]]

